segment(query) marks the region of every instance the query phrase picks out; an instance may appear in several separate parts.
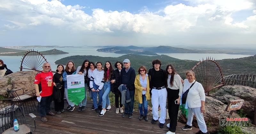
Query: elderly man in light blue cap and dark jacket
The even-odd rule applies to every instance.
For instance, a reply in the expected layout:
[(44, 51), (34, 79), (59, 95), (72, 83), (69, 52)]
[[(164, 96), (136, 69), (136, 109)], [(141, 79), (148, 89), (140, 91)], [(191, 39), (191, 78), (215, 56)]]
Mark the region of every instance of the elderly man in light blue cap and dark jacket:
[(124, 68), (120, 72), (120, 85), (124, 84), (129, 89), (131, 101), (124, 104), (124, 114), (122, 117), (127, 117), (132, 119), (132, 112), (133, 112), (133, 104), (134, 104), (134, 92), (135, 92), (135, 70), (130, 66), (130, 60), (124, 59)]

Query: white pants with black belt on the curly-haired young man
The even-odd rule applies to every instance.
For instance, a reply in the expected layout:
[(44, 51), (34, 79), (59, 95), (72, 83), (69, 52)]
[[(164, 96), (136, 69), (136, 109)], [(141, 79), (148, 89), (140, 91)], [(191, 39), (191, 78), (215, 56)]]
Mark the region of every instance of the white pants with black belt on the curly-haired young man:
[(158, 120), (158, 106), (160, 104), (160, 118), (159, 118), (159, 123), (165, 123), (165, 118), (166, 118), (166, 99), (167, 99), (167, 90), (166, 88), (164, 89), (152, 89), (151, 91), (152, 97), (151, 97), (151, 102), (152, 102), (152, 112), (153, 112), (153, 119)]

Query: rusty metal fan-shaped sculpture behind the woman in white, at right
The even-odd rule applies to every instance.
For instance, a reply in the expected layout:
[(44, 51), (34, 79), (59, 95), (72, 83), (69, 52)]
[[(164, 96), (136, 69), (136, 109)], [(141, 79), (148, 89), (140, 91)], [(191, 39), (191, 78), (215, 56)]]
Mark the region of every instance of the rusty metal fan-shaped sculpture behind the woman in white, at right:
[(200, 60), (192, 68), (196, 74), (196, 80), (203, 85), (204, 92), (208, 95), (210, 90), (224, 85), (221, 68), (214, 60), (206, 57), (206, 60)]

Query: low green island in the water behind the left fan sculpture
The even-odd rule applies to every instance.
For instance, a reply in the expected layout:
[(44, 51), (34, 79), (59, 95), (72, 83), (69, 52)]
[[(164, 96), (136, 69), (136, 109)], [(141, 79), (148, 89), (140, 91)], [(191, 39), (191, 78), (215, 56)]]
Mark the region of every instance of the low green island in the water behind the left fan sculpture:
[[(9, 49), (9, 48), (6, 48), (6, 49)], [(17, 49), (14, 49), (13, 51), (4, 51), (2, 52), (2, 48), (0, 48), (1, 50), (1, 53), (0, 53), (0, 56), (23, 56), (26, 51), (24, 50), (21, 50), (21, 52), (16, 52), (14, 50), (17, 50)], [(51, 50), (47, 50), (47, 51), (41, 51), (40, 52), (41, 54), (43, 55), (60, 55), (60, 54), (68, 54), (68, 52), (64, 52), (64, 51), (61, 51), (61, 50), (58, 50), (58, 49), (51, 49)]]

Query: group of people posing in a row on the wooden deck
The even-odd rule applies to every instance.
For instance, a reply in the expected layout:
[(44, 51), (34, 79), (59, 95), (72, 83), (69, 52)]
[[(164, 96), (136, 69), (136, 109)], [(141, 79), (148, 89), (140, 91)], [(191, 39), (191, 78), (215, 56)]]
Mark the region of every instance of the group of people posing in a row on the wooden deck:
[[(42, 122), (47, 122), (45, 115), (54, 115), (50, 111), (52, 97), (54, 97), (56, 113), (61, 114), (65, 111), (64, 92), (69, 105), (66, 109), (69, 112), (74, 110), (75, 104), (68, 99), (67, 75), (81, 74), (84, 75), (85, 97), (79, 104), (79, 112), (85, 110), (88, 88), (89, 97), (93, 100), (92, 110), (95, 110), (99, 116), (105, 115), (106, 111), (111, 108), (108, 97), (111, 91), (115, 94), (116, 114), (120, 111), (124, 118), (131, 119), (133, 117), (134, 100), (137, 100), (140, 110), (139, 120), (148, 121), (148, 101), (151, 99), (153, 113), (151, 123), (155, 124), (158, 121), (159, 127), (164, 128), (168, 99), (170, 123), (167, 124), (169, 127), (167, 134), (174, 134), (176, 131), (180, 105), (188, 111), (188, 122), (182, 129), (191, 130), (193, 116), (196, 115), (200, 133), (207, 133), (202, 114), (204, 113), (205, 101), (204, 88), (196, 82), (193, 71), (187, 71), (187, 79), (182, 80), (171, 64), (168, 64), (165, 70), (161, 69), (161, 61), (158, 59), (152, 61), (153, 68), (149, 69), (148, 72), (145, 66), (140, 66), (138, 75), (131, 67), (129, 59), (124, 59), (123, 62), (117, 61), (114, 66), (116, 70), (113, 69), (109, 61), (105, 62), (104, 67), (102, 67), (101, 62), (94, 64), (89, 60), (84, 60), (82, 65), (76, 69), (74, 63), (69, 61), (65, 69), (63, 65), (59, 64), (57, 73), (52, 75), (50, 64), (44, 63), (43, 71), (36, 74), (34, 82), (36, 96), (42, 97), (39, 110)], [(41, 93), (39, 93), (39, 84), (42, 87)], [(185, 93), (187, 93), (186, 102), (181, 102)], [(158, 114), (159, 105), (160, 117)]]

